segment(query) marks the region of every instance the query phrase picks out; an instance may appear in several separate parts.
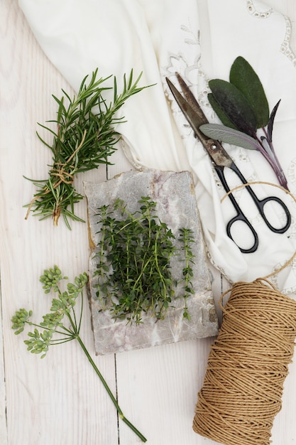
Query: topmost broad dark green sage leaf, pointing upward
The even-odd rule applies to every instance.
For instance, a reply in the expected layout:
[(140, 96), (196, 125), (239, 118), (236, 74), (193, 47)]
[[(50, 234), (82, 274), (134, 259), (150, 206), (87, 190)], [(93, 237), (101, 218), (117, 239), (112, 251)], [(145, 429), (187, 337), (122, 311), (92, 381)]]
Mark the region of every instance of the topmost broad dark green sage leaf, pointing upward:
[(246, 59), (239, 56), (234, 60), (229, 80), (243, 93), (253, 107), (257, 119), (257, 128), (265, 127), (269, 119), (268, 100), (261, 80)]

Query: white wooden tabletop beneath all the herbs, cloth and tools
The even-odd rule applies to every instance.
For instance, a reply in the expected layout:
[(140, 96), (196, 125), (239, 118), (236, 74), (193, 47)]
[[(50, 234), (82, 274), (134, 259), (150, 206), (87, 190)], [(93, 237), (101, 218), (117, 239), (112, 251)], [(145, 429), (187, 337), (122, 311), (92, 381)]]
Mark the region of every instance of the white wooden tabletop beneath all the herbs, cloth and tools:
[[(243, 1), (243, 0), (240, 0)], [(295, 0), (270, 0), (270, 6), (296, 21)], [(296, 53), (296, 31), (292, 31)], [(51, 220), (24, 220), (33, 186), (23, 179), (46, 178), (50, 153), (41, 146), (36, 122), (56, 112), (51, 95), (70, 92), (35, 41), (16, 0), (0, 1), (0, 444), (1, 445), (133, 445), (141, 441), (120, 420), (87, 359), (72, 342), (51, 348), (48, 356), (26, 351), (14, 336), (11, 316), (33, 309), (40, 318), (50, 297), (38, 282), (43, 269), (58, 264), (70, 278), (87, 270), (85, 225), (72, 231)], [(296, 97), (295, 97), (296, 100)], [(292, 146), (295, 150), (295, 146)], [(131, 166), (117, 152), (108, 178)], [(86, 173), (87, 181), (104, 181), (106, 169)], [(82, 192), (82, 186), (77, 183)], [(77, 205), (86, 214), (85, 201)], [(228, 287), (214, 275), (214, 296)], [(82, 337), (126, 417), (151, 445), (211, 445), (192, 431), (194, 405), (202, 385), (212, 338), (96, 357), (89, 310), (85, 305)], [(285, 381), (283, 409), (273, 427), (274, 445), (296, 444), (296, 363)], [(239, 444), (238, 444), (239, 445)]]

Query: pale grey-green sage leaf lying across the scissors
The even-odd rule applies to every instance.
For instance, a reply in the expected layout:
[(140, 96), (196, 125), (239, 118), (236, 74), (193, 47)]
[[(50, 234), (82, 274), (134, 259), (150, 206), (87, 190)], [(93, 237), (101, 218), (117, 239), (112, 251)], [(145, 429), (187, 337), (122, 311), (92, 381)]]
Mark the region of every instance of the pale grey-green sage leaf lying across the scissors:
[(243, 149), (248, 150), (258, 150), (258, 142), (248, 134), (239, 132), (236, 129), (229, 127), (224, 127), (224, 125), (219, 124), (204, 124), (199, 127), (199, 129), (212, 139), (218, 141), (226, 142), (227, 144), (232, 144), (236, 146), (241, 146)]

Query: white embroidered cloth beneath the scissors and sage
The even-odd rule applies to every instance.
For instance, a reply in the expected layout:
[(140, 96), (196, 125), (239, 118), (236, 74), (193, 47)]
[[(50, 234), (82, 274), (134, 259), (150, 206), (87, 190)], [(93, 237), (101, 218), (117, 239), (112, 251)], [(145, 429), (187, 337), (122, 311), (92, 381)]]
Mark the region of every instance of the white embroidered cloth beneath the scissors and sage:
[[(216, 178), (202, 145), (168, 92), (165, 77), (177, 71), (192, 87), (210, 122), (217, 122), (207, 101), (212, 78), (229, 80), (234, 59), (242, 55), (258, 73), (273, 108), (281, 99), (273, 140), (292, 193), (296, 189), (296, 58), (289, 48), (290, 22), (269, 6), (251, 0), (19, 0), (35, 37), (60, 73), (78, 89), (84, 75), (116, 75), (119, 83), (131, 68), (141, 85), (155, 86), (126, 101), (120, 115), (124, 150), (136, 168), (192, 171), (207, 251), (213, 264), (231, 281), (263, 277), (292, 257), (296, 246), (296, 204), (276, 187), (253, 186), (260, 198), (278, 195), (292, 213), (283, 235), (265, 226), (248, 199), (236, 192), (259, 236), (255, 253), (242, 254), (226, 235), (234, 216), (229, 198)], [(113, 80), (110, 80), (113, 82)], [(226, 146), (248, 181), (277, 183), (263, 156)], [(226, 172), (229, 186), (239, 183)], [(173, 193), (173, 191), (172, 191)], [(269, 217), (285, 220), (278, 207)], [(270, 211), (269, 211), (270, 214)], [(238, 240), (252, 239), (241, 226)], [(274, 278), (281, 291), (296, 289), (296, 262)]]

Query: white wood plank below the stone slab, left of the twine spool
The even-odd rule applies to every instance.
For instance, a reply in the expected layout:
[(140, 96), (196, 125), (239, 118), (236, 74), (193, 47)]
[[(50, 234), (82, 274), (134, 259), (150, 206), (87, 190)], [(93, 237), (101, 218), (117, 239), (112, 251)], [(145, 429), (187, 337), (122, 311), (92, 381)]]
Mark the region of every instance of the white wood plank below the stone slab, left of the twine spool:
[[(132, 413), (148, 443), (207, 443), (192, 431), (192, 419), (211, 341), (185, 341), (116, 355), (119, 402)], [(124, 425), (120, 444), (138, 444)]]

